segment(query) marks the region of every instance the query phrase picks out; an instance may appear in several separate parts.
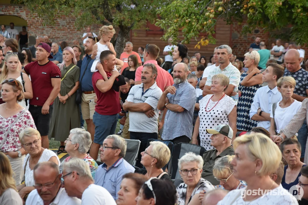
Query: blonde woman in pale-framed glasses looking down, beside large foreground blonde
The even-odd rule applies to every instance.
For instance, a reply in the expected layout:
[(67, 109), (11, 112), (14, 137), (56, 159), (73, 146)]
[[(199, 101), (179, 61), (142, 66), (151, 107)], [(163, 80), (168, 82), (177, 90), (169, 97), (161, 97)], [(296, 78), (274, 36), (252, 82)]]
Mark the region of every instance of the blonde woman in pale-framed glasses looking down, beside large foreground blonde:
[(235, 155), (227, 155), (215, 161), (215, 164), (213, 166), (213, 175), (220, 184), (219, 186), (217, 186), (217, 188), (231, 191), (234, 189), (241, 189), (247, 187), (245, 181), (240, 181), (233, 175), (234, 170), (231, 161), (234, 157)]

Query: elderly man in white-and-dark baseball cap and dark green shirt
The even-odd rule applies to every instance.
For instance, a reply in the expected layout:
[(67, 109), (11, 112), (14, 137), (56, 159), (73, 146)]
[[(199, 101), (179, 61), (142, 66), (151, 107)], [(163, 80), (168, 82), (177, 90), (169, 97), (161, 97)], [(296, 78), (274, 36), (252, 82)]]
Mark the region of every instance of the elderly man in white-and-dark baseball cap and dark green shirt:
[(215, 186), (219, 185), (219, 181), (217, 181), (213, 175), (214, 162), (220, 157), (234, 155), (234, 150), (231, 147), (233, 130), (229, 125), (220, 124), (214, 129), (206, 129), (206, 132), (212, 134), (210, 137), (212, 140), (211, 145), (215, 149), (208, 150), (203, 154), (204, 164), (201, 177)]

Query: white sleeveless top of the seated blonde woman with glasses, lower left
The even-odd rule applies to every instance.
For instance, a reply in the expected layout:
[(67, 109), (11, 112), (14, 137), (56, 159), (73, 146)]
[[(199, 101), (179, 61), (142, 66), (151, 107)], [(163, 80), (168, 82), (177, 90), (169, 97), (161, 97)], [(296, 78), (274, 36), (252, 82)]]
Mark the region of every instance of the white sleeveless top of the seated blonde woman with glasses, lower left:
[[(59, 157), (57, 156), (57, 154), (49, 149), (45, 149), (42, 153), (41, 158), (39, 158), (39, 162), (47, 162), (48, 160), (50, 160), (51, 157), (55, 156), (58, 160), (58, 165), (60, 167), (61, 163), (59, 160)], [(29, 159), (30, 155), (27, 154), (25, 157), (25, 161), (23, 162), (23, 168), (25, 168), (26, 165), (26, 161)], [(26, 173), (25, 173), (25, 183), (26, 183), (26, 187), (32, 187), (34, 185), (34, 177), (33, 177), (33, 170), (30, 169), (30, 159), (27, 162), (27, 166), (26, 166)]]

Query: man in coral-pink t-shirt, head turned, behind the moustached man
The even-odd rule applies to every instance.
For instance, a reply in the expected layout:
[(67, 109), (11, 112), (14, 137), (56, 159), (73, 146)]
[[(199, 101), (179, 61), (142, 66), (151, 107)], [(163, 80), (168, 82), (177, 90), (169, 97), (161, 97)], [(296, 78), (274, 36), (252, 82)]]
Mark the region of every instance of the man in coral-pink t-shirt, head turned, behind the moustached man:
[[(157, 86), (164, 92), (164, 90), (168, 86), (173, 85), (174, 82), (173, 82), (173, 78), (170, 75), (170, 73), (168, 73), (168, 71), (164, 70), (159, 65), (157, 65), (156, 58), (159, 55), (159, 51), (160, 51), (160, 49), (157, 45), (147, 44), (145, 46), (145, 49), (144, 49), (143, 58), (144, 58), (144, 64), (152, 63), (156, 66), (156, 68), (157, 68), (156, 83), (157, 83)], [(142, 69), (143, 69), (143, 66), (140, 66), (136, 70), (135, 85), (141, 84), (141, 71), (142, 71)]]

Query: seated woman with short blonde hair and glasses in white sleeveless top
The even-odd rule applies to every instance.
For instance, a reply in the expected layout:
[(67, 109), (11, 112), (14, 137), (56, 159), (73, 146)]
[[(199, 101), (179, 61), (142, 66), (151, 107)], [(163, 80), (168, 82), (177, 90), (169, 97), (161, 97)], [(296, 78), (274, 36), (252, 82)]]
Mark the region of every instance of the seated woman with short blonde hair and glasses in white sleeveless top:
[(25, 195), (29, 194), (34, 190), (34, 177), (33, 169), (39, 162), (54, 162), (61, 165), (60, 160), (55, 152), (42, 148), (42, 138), (34, 128), (26, 128), (19, 135), (19, 141), (23, 145), (23, 148), (29, 153), (26, 155), (23, 162), (25, 171), (25, 183), (19, 185), (17, 190), (19, 191), (20, 197), (23, 199)]

